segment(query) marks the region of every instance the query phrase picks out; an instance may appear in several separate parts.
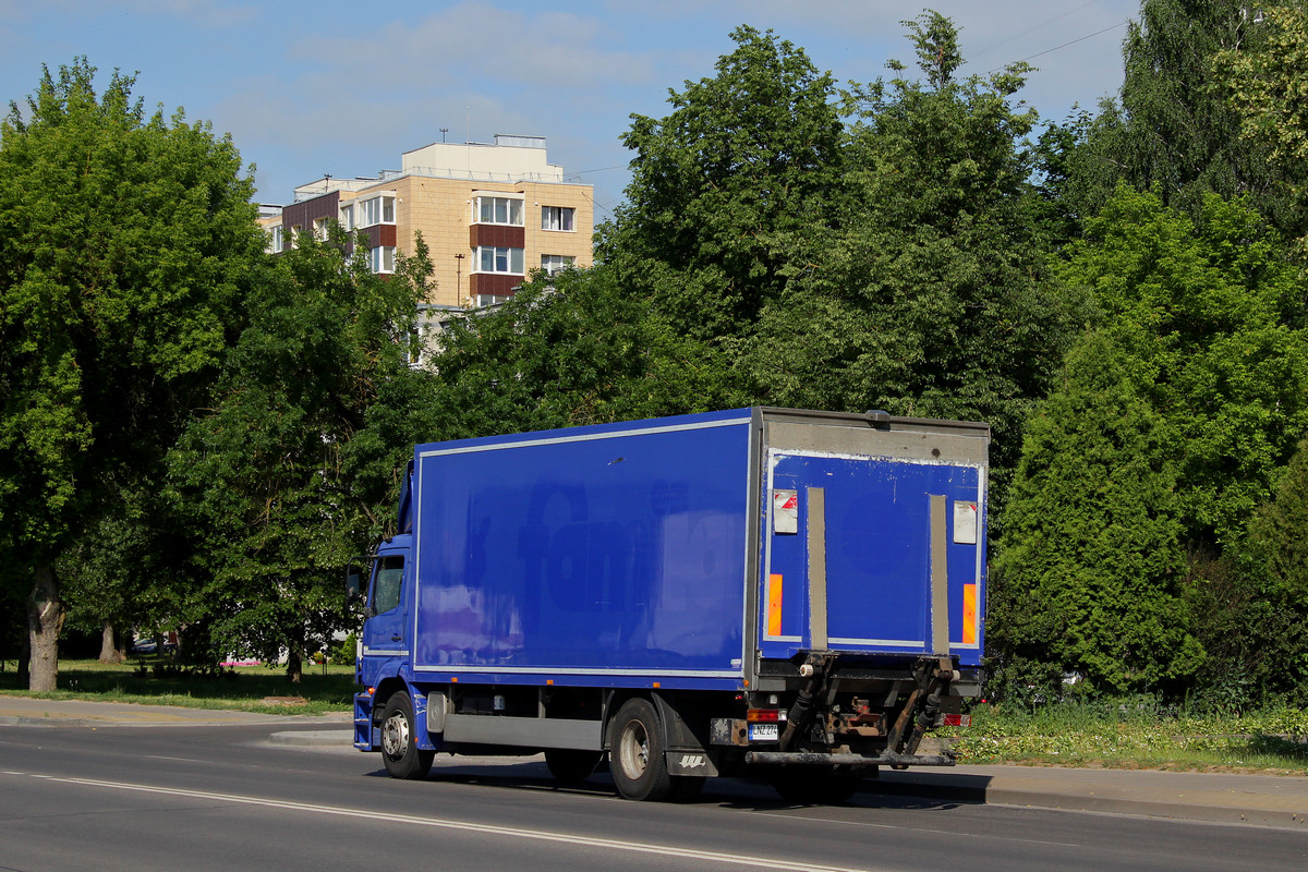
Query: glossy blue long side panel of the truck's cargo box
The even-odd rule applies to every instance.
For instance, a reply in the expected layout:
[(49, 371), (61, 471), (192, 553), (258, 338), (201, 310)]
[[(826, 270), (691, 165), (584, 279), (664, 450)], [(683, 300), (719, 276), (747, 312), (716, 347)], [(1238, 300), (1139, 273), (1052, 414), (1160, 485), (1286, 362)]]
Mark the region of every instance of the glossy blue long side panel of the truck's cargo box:
[(738, 676), (749, 420), (420, 446), (415, 671)]

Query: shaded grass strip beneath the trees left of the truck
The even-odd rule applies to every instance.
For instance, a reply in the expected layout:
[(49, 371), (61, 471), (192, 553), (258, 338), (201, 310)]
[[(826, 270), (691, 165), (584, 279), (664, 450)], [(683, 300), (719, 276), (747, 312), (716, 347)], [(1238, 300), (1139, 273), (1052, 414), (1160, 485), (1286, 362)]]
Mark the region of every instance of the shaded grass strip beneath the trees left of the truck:
[[(105, 664), (97, 660), (61, 660), (58, 690), (31, 693), (18, 684), (18, 676), (0, 672), (0, 694), (39, 699), (86, 699), (93, 702), (135, 702), (188, 709), (228, 709), (276, 715), (323, 715), (349, 711), (354, 694), (352, 665), (320, 665), (305, 669), (300, 684), (292, 684), (277, 667), (235, 667), (222, 677), (164, 675), (156, 677), (160, 660)], [(164, 662), (166, 663), (166, 662)], [(144, 665), (144, 675), (140, 667)], [(269, 699), (277, 699), (269, 702)], [(286, 701), (292, 702), (286, 702)]]

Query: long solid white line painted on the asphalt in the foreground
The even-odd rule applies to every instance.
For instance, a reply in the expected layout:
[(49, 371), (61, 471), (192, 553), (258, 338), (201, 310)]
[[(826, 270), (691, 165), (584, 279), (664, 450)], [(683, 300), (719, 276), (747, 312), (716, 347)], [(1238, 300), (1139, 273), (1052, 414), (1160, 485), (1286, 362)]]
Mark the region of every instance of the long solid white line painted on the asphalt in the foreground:
[(186, 799), (204, 799), (218, 803), (235, 803), (239, 805), (259, 805), (262, 808), (280, 808), (292, 812), (307, 812), (311, 814), (326, 814), (335, 817), (353, 817), (368, 821), (383, 821), (387, 824), (409, 824), (415, 826), (430, 826), (436, 829), (460, 830), (483, 833), (487, 835), (501, 835), (538, 842), (557, 842), (562, 845), (581, 845), (586, 847), (610, 848), (613, 851), (629, 851), (633, 854), (654, 854), (658, 856), (680, 858), (687, 860), (705, 860), (710, 863), (725, 863), (729, 865), (748, 865), (766, 869), (780, 869), (781, 872), (882, 872), (872, 867), (855, 869), (848, 865), (815, 865), (806, 862), (782, 860), (766, 856), (743, 856), (739, 854), (723, 854), (719, 851), (701, 851), (697, 848), (683, 848), (672, 845), (642, 845), (640, 842), (627, 842), (623, 839), (596, 838), (593, 835), (569, 835), (564, 833), (547, 833), (544, 830), (528, 830), (513, 826), (496, 826), (493, 824), (473, 824), (470, 821), (455, 821), (439, 817), (419, 817), (416, 814), (391, 814), (387, 812), (369, 812), (361, 808), (334, 808), (330, 805), (315, 805), (313, 803), (294, 803), (290, 800), (267, 799), (260, 796), (241, 796), (239, 794), (212, 794), (208, 791), (183, 790), (178, 787), (154, 787), (150, 784), (132, 784), (127, 782), (106, 782), (94, 778), (61, 778), (58, 775), (41, 775), (37, 773), (7, 773), (39, 778), (41, 780), (60, 784), (78, 784), (82, 787), (105, 787), (109, 790), (133, 791), (140, 794), (161, 794), (165, 796), (183, 796)]

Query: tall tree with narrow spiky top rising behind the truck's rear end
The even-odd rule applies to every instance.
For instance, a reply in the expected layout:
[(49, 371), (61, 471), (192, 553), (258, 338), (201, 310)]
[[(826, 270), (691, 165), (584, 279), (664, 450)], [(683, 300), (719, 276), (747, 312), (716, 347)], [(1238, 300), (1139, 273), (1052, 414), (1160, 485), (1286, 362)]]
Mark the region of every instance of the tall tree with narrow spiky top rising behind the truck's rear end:
[(1080, 306), (1046, 267), (1025, 68), (957, 81), (948, 18), (906, 24), (925, 81), (849, 93), (841, 225), (794, 242), (735, 366), (778, 405), (989, 421), (1002, 493)]

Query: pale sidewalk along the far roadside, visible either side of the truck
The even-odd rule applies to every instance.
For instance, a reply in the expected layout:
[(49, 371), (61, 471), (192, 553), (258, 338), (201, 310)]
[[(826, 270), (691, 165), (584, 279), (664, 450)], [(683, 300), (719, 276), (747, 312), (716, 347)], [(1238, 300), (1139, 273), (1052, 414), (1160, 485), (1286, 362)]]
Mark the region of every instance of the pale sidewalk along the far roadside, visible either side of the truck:
[[(0, 696), (0, 727), (161, 727), (279, 724), (272, 744), (349, 748), (349, 713), (323, 716), (47, 701)], [(993, 803), (1066, 811), (1143, 814), (1192, 821), (1250, 824), (1308, 831), (1308, 777), (1162, 773), (1121, 769), (955, 766), (892, 771), (865, 794), (947, 801)]]

